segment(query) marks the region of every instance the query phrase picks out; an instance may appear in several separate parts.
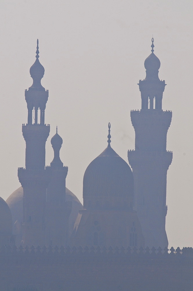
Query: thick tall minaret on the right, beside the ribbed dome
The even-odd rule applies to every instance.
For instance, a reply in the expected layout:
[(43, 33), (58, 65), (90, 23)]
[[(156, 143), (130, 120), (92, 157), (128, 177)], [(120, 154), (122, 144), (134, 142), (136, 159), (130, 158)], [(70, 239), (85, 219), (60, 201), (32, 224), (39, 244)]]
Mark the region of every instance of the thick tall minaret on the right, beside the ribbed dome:
[(135, 150), (128, 151), (134, 175), (134, 208), (142, 226), (145, 245), (168, 246), (165, 231), (167, 170), (172, 152), (166, 150), (167, 131), (172, 120), (171, 111), (162, 110), (165, 81), (160, 81), (160, 60), (154, 54), (145, 60), (146, 78), (139, 81), (141, 110), (131, 111), (135, 129)]

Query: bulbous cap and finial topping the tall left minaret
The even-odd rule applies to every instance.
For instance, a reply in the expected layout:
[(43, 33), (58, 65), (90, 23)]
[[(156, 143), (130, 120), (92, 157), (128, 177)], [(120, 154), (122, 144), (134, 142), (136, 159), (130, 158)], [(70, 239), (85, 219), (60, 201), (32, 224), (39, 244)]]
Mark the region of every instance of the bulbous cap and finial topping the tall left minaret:
[(39, 47), (38, 47), (38, 40), (37, 40), (37, 50), (36, 50), (36, 60), (35, 63), (30, 68), (30, 76), (33, 79), (33, 84), (30, 89), (38, 89), (38, 90), (45, 90), (41, 84), (41, 79), (44, 77), (44, 67), (39, 62)]

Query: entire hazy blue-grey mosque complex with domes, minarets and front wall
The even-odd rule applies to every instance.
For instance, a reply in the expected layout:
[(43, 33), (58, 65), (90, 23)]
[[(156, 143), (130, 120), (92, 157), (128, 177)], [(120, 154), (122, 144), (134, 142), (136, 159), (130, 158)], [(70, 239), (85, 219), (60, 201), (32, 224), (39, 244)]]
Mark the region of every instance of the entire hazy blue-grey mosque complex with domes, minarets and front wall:
[(68, 167), (60, 160), (57, 128), (51, 139), (54, 158), (45, 166), (48, 90), (41, 84), (37, 40), (33, 84), (25, 90), (21, 187), (6, 202), (0, 198), (0, 291), (193, 290), (192, 248), (167, 248), (172, 152), (166, 140), (172, 112), (162, 109), (166, 84), (158, 77), (153, 38), (144, 65), (146, 77), (138, 84), (141, 109), (131, 110), (136, 137), (129, 164), (111, 146), (109, 123), (107, 147), (84, 173), (82, 205), (66, 188)]

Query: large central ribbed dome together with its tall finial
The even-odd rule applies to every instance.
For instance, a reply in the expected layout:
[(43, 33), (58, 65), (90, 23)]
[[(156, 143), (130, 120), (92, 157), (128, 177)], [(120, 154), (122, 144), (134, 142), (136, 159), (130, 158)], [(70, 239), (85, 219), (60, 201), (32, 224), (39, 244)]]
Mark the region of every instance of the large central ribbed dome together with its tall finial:
[[(83, 178), (84, 208), (132, 208), (134, 179), (129, 165), (110, 146), (86, 168)], [(123, 203), (120, 205), (120, 203)]]

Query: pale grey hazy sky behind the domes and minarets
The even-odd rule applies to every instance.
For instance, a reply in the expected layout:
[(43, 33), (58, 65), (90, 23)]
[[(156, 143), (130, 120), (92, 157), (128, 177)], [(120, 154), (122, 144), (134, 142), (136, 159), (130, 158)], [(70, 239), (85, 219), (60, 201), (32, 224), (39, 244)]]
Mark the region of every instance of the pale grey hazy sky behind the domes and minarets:
[(106, 148), (109, 121), (113, 149), (127, 161), (127, 150), (134, 148), (130, 110), (140, 109), (137, 83), (145, 78), (153, 34), (159, 77), (167, 84), (163, 109), (173, 112), (167, 135), (173, 161), (167, 174), (166, 230), (169, 246), (192, 246), (192, 3), (1, 0), (2, 198), (20, 187), (17, 168), (25, 166), (24, 90), (32, 84), (37, 38), (45, 68), (42, 85), (49, 90), (46, 164), (53, 159), (50, 138), (57, 125), (63, 138), (60, 156), (68, 166), (66, 186), (82, 201), (84, 171)]

